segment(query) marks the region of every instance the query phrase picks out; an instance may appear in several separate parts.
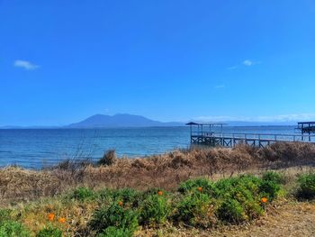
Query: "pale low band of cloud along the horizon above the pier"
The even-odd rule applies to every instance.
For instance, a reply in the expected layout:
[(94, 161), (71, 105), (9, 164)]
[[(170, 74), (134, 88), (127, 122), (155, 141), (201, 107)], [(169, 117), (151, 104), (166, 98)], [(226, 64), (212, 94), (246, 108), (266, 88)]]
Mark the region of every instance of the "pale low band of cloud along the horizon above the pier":
[(242, 121), (242, 122), (297, 122), (297, 121), (313, 121), (315, 114), (279, 114), (268, 116), (199, 116), (193, 118), (194, 121), (199, 122), (222, 122), (222, 121)]

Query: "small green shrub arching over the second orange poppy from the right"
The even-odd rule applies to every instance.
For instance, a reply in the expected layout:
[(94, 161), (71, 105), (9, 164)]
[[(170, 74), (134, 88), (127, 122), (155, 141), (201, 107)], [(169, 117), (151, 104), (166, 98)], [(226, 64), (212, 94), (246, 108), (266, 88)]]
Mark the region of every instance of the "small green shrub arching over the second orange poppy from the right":
[(218, 189), (207, 178), (189, 179), (180, 185), (178, 191), (182, 194), (187, 194), (189, 192), (197, 191), (198, 187), (202, 187), (202, 193), (204, 194), (218, 196)]

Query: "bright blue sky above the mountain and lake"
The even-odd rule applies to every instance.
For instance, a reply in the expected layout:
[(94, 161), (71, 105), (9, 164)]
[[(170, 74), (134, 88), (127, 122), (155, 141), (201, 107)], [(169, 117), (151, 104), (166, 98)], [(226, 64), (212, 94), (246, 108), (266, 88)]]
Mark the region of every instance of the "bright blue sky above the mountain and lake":
[(315, 119), (315, 1), (0, 0), (0, 125)]

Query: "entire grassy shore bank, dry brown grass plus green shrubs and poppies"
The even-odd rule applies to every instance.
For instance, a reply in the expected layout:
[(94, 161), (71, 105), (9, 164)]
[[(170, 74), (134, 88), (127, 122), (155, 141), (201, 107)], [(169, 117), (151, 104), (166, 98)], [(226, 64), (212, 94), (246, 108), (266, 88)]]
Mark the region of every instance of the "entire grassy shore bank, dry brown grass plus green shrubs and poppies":
[(0, 236), (234, 236), (275, 206), (304, 208), (300, 201), (312, 220), (305, 200), (315, 197), (314, 164), (313, 145), (276, 143), (135, 160), (110, 150), (97, 164), (4, 168)]

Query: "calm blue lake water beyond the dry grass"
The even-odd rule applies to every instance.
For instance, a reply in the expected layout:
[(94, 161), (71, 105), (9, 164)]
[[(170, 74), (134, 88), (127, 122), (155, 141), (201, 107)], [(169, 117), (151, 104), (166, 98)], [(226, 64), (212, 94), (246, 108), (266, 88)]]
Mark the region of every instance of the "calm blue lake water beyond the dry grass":
[[(225, 127), (223, 132), (294, 133), (293, 126)], [(0, 166), (40, 169), (67, 158), (97, 160), (104, 150), (139, 157), (187, 148), (188, 127), (0, 130)]]

